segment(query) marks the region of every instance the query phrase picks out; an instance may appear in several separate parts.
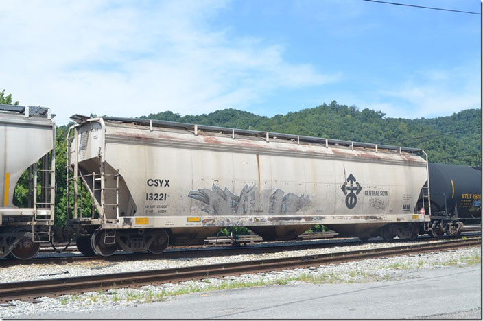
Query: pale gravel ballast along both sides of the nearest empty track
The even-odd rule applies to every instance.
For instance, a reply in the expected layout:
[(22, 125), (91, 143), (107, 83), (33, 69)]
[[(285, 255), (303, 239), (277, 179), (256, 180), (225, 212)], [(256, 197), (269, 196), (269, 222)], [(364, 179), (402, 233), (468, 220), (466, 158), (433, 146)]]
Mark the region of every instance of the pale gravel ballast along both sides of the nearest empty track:
[[(405, 242), (405, 244), (408, 244)], [(378, 244), (380, 247), (395, 244)], [(172, 268), (174, 266), (201, 265), (219, 263), (222, 261), (242, 261), (260, 259), (261, 257), (286, 257), (289, 255), (308, 255), (328, 252), (341, 252), (374, 248), (375, 244), (362, 246), (347, 246), (343, 248), (326, 248), (318, 250), (303, 250), (281, 252), (274, 254), (250, 254), (236, 257), (215, 257), (203, 259), (159, 259), (152, 261), (119, 262), (119, 263), (90, 263), (85, 266), (75, 265), (32, 265), (18, 268), (3, 268), (3, 280), (10, 277), (21, 279), (39, 278), (40, 274), (69, 271), (65, 276), (93, 275), (99, 273), (125, 272), (127, 270), (148, 270), (158, 268)], [(66, 295), (56, 298), (38, 298), (36, 302), (14, 300), (8, 304), (0, 304), (0, 318), (21, 318), (54, 312), (82, 312), (93, 309), (119, 309), (126, 306), (137, 306), (144, 302), (168, 300), (172, 296), (190, 292), (203, 292), (216, 289), (230, 289), (237, 287), (252, 287), (263, 285), (296, 285), (304, 282), (314, 283), (355, 283), (373, 281), (394, 281), (417, 278), (418, 269), (435, 269), (449, 266), (467, 266), (481, 262), (481, 248), (464, 248), (447, 250), (444, 252), (430, 252), (423, 254), (404, 255), (380, 259), (366, 259), (342, 264), (321, 265), (311, 268), (281, 270), (270, 273), (244, 274), (225, 278), (207, 278), (202, 281), (187, 281), (177, 284), (165, 283), (159, 286), (145, 286), (137, 289), (99, 289), (98, 292), (86, 292), (79, 295)], [(8, 270), (8, 272), (5, 272)], [(23, 270), (22, 272), (20, 270)], [(35, 274), (31, 277), (28, 274)], [(55, 276), (45, 276), (55, 277)]]

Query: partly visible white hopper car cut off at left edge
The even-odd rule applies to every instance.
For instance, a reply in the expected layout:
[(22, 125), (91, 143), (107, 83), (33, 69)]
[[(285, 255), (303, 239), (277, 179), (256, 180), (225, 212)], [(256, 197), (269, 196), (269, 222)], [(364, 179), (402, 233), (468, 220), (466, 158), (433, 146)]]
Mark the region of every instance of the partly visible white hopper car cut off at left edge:
[[(49, 108), (0, 104), (0, 257), (30, 259), (54, 224), (56, 126)], [(25, 173), (26, 203), (14, 191)]]

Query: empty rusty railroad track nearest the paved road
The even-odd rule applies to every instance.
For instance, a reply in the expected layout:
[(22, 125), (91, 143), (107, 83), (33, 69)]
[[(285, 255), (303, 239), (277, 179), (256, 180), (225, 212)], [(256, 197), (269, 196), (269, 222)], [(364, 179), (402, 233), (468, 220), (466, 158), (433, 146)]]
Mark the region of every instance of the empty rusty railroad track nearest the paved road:
[(377, 257), (391, 257), (402, 254), (480, 246), (480, 244), (481, 237), (478, 237), (473, 239), (458, 239), (456, 241), (441, 241), (412, 246), (396, 246), (392, 248), (357, 250), (303, 257), (263, 259), (186, 268), (170, 268), (165, 270), (148, 270), (116, 274), (100, 274), (95, 276), (78, 276), (73, 278), (1, 283), (0, 302), (8, 302), (11, 300), (32, 300), (40, 296), (59, 296), (62, 294), (98, 291), (99, 289), (141, 287), (143, 285), (156, 285), (167, 282), (178, 283), (193, 279), (219, 278), (222, 276), (270, 272), (287, 268), (307, 268), (316, 265), (358, 261)]

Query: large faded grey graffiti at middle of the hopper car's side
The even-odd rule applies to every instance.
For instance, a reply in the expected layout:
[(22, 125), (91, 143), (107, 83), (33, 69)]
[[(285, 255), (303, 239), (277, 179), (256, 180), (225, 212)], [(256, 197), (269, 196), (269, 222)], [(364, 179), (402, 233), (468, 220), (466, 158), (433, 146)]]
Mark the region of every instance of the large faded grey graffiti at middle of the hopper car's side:
[(239, 195), (233, 194), (226, 187), (221, 189), (213, 184), (211, 189), (189, 191), (188, 196), (207, 204), (202, 211), (209, 215), (284, 215), (297, 213), (310, 204), (307, 195), (285, 195), (281, 189), (264, 189), (259, 192), (256, 184), (245, 185)]

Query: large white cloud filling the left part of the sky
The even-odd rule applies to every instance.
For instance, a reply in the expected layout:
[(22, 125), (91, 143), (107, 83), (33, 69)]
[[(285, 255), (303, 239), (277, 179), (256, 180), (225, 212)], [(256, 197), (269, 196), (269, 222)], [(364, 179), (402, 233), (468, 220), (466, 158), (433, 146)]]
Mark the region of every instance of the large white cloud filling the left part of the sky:
[(245, 108), (325, 75), (283, 58), (281, 45), (235, 37), (210, 20), (224, 1), (3, 1), (0, 89), (21, 104), (136, 117)]

